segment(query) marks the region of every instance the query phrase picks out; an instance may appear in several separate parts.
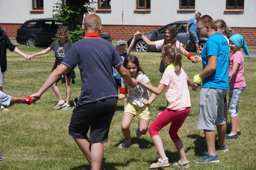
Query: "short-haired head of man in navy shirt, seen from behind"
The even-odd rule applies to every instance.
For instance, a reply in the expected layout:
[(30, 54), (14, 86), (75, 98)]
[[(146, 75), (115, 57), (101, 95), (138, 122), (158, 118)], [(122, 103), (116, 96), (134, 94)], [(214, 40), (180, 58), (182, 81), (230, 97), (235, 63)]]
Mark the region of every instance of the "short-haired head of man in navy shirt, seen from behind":
[(101, 19), (96, 14), (88, 14), (84, 17), (84, 31), (99, 33), (101, 29)]

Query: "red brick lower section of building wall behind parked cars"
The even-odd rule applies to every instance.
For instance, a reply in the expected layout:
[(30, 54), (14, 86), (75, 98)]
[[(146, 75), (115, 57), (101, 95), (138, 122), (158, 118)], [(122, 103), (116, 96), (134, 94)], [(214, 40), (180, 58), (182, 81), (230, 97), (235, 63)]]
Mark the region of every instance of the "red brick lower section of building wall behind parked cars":
[[(16, 37), (17, 29), (22, 24), (2, 23), (3, 28), (6, 30), (6, 35), (9, 37)], [(127, 41), (130, 36), (136, 31), (140, 32), (151, 32), (159, 29), (162, 26), (133, 26), (133, 25), (102, 25), (102, 31), (107, 32), (111, 35), (112, 40), (123, 39)], [(256, 28), (242, 28), (242, 27), (231, 27), (236, 34), (243, 35), (246, 40), (247, 46), (256, 46)]]

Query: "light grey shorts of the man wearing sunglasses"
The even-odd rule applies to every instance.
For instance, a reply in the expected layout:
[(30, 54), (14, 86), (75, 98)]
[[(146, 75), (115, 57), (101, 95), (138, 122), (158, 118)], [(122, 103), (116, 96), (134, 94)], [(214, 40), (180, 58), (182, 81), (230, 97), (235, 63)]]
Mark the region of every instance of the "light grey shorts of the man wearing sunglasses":
[(214, 124), (225, 124), (224, 97), (227, 90), (202, 88), (199, 96), (197, 129), (214, 131)]

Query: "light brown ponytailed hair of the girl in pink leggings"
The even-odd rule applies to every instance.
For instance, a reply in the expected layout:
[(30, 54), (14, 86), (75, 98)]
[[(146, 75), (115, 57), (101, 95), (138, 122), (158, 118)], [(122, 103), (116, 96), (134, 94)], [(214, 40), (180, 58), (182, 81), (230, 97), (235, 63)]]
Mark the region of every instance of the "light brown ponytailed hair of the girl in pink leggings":
[(175, 67), (175, 73), (178, 73), (181, 70), (182, 66), (182, 56), (179, 53), (178, 49), (174, 45), (164, 45), (162, 48), (163, 56), (167, 56), (169, 60), (167, 63), (173, 64)]

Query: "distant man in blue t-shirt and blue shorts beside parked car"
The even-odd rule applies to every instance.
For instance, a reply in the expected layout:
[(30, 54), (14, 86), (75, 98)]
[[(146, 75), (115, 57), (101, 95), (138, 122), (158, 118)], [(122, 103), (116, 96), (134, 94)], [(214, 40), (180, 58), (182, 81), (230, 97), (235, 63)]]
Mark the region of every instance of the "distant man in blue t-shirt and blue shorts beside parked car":
[(199, 49), (199, 34), (197, 33), (197, 20), (201, 17), (201, 13), (197, 12), (196, 15), (189, 19), (187, 23), (187, 36), (189, 35), (188, 41), (186, 45), (184, 46), (184, 49), (191, 43), (195, 42), (196, 49), (198, 51), (198, 54), (201, 54), (201, 50)]

